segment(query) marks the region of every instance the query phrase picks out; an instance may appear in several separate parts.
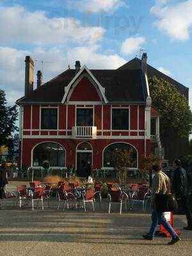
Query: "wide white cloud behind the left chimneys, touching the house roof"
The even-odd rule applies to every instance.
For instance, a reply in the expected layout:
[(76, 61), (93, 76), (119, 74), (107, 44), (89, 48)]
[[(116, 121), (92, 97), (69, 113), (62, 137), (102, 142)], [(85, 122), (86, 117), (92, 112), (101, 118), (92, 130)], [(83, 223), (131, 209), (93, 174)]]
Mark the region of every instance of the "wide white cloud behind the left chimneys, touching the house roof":
[[(51, 47), (49, 49), (36, 47), (33, 52), (18, 51), (10, 47), (0, 47), (0, 88), (6, 92), (6, 99), (10, 104), (24, 95), (24, 67), (25, 56), (31, 55), (33, 60), (44, 60), (43, 81), (52, 79), (68, 68), (74, 68), (75, 61), (80, 60), (88, 68), (117, 68), (126, 61), (117, 54), (101, 54), (99, 45), (74, 47), (68, 50)], [(36, 70), (42, 64), (35, 62)]]

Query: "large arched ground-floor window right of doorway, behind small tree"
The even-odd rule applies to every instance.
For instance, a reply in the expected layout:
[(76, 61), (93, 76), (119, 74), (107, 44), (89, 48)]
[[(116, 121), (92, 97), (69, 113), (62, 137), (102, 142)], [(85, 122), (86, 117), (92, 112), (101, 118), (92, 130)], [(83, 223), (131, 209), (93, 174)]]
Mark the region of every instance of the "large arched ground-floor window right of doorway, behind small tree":
[(138, 152), (134, 147), (127, 143), (113, 143), (106, 147), (103, 152), (103, 167), (114, 167), (113, 166), (113, 154), (116, 150), (127, 151), (131, 153), (132, 164), (127, 166), (129, 168), (138, 168)]

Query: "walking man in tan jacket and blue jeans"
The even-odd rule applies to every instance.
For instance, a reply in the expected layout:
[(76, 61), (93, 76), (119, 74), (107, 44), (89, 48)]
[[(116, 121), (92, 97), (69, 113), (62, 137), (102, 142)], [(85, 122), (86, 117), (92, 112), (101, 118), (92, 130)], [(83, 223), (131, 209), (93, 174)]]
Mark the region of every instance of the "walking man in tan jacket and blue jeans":
[(156, 194), (166, 194), (170, 188), (170, 179), (166, 174), (161, 170), (160, 165), (153, 166), (154, 178), (152, 179), (152, 200), (153, 200), (153, 211), (152, 211), (152, 224), (148, 234), (143, 235), (144, 239), (153, 240), (156, 234), (156, 229), (158, 223), (163, 225), (163, 227), (170, 233), (172, 236), (172, 241), (168, 244), (172, 245), (180, 241), (180, 237), (177, 235), (173, 227), (166, 221), (164, 218), (164, 212), (159, 212), (156, 210)]

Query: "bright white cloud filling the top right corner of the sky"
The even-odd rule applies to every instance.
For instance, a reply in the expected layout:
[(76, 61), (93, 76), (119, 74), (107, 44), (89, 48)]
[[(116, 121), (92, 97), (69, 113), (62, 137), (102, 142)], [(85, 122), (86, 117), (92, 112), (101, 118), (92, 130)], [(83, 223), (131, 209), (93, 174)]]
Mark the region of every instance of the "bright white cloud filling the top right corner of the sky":
[(192, 27), (192, 0), (180, 1), (174, 5), (166, 3), (167, 1), (162, 5), (156, 4), (150, 10), (158, 18), (156, 27), (175, 40), (188, 40)]

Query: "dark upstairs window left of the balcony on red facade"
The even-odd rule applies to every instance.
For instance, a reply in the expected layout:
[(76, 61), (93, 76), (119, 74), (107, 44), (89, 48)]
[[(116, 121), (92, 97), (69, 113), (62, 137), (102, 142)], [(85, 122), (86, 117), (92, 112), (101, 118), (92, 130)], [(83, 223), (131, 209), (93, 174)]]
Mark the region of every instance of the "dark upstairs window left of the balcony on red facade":
[(57, 108), (42, 108), (41, 129), (42, 130), (58, 129), (58, 109)]

